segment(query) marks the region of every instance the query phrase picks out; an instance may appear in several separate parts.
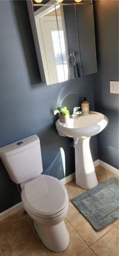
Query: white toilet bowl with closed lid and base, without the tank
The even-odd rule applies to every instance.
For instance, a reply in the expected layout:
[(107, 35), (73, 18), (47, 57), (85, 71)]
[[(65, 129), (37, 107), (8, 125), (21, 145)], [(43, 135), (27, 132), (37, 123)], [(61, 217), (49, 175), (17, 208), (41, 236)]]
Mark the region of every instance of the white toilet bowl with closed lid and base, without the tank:
[(46, 247), (55, 252), (67, 248), (69, 234), (64, 218), (68, 211), (68, 195), (61, 182), (40, 174), (24, 184), (21, 197), (23, 206), (34, 220), (37, 233)]

